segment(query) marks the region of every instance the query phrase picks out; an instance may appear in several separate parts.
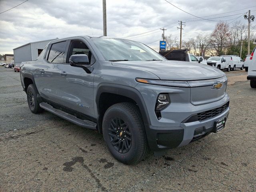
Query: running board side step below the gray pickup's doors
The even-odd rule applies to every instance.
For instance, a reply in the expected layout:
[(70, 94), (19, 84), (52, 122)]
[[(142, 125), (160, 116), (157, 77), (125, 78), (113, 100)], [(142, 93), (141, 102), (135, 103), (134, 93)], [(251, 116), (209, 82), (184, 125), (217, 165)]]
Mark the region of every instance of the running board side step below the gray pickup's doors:
[(53, 113), (53, 114), (55, 114), (55, 115), (65, 119), (65, 120), (68, 120), (68, 121), (70, 121), (70, 122), (72, 122), (72, 123), (74, 123), (76, 125), (96, 130), (97, 124), (92, 122), (92, 121), (78, 119), (76, 116), (71, 115), (69, 113), (66, 113), (66, 112), (64, 112), (62, 110), (55, 109), (55, 108), (53, 108), (53, 106), (51, 106), (50, 104), (45, 103), (45, 102), (42, 102), (39, 105), (44, 110), (49, 111), (49, 112), (51, 112), (51, 113)]

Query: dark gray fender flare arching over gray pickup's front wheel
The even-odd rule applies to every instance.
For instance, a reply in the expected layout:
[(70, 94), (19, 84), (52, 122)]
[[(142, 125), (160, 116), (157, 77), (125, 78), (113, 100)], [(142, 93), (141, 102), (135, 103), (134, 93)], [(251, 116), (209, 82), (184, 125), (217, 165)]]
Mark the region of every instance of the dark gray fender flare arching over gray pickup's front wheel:
[(140, 92), (138, 90), (136, 90), (135, 88), (118, 85), (118, 84), (111, 84), (111, 83), (100, 84), (100, 86), (98, 87), (97, 94), (96, 94), (96, 104), (97, 104), (98, 114), (100, 114), (99, 102), (100, 102), (100, 95), (102, 93), (112, 93), (112, 94), (122, 95), (122, 96), (125, 96), (128, 98), (131, 98), (132, 100), (134, 100), (137, 103), (137, 105), (140, 109), (145, 128), (147, 127), (147, 125), (150, 124), (150, 118), (148, 116), (148, 110), (146, 108), (146, 104), (145, 104)]

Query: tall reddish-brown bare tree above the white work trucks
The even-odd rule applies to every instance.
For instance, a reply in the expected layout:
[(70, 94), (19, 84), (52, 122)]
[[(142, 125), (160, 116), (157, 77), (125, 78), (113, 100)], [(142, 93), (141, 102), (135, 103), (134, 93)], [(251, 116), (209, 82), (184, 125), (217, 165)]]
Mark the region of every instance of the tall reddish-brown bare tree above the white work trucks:
[(211, 34), (210, 46), (218, 56), (225, 54), (226, 44), (229, 42), (230, 30), (225, 22), (218, 22)]

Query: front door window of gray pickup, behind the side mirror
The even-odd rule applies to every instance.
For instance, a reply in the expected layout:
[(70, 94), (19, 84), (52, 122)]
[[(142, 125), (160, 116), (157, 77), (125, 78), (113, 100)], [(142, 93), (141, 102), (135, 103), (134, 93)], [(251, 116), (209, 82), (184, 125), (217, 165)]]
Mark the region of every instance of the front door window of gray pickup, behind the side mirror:
[(88, 46), (79, 40), (72, 41), (70, 44), (70, 50), (68, 53), (67, 63), (71, 55), (77, 55), (77, 54), (86, 54), (89, 59), (89, 63), (92, 65), (95, 63), (95, 57), (93, 56), (92, 52), (88, 48)]

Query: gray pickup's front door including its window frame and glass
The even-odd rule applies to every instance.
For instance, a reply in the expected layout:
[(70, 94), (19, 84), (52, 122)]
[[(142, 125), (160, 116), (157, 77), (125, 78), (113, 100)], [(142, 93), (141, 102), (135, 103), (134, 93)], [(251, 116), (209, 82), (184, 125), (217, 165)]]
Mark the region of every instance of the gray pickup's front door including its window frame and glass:
[(68, 59), (71, 55), (86, 54), (89, 58), (90, 65), (93, 65), (96, 60), (92, 52), (82, 40), (71, 40), (69, 51), (66, 58), (66, 63), (58, 64), (61, 81), (59, 89), (62, 92), (62, 105), (94, 117), (93, 104), (93, 80), (94, 71), (86, 72), (83, 68), (71, 66)]

